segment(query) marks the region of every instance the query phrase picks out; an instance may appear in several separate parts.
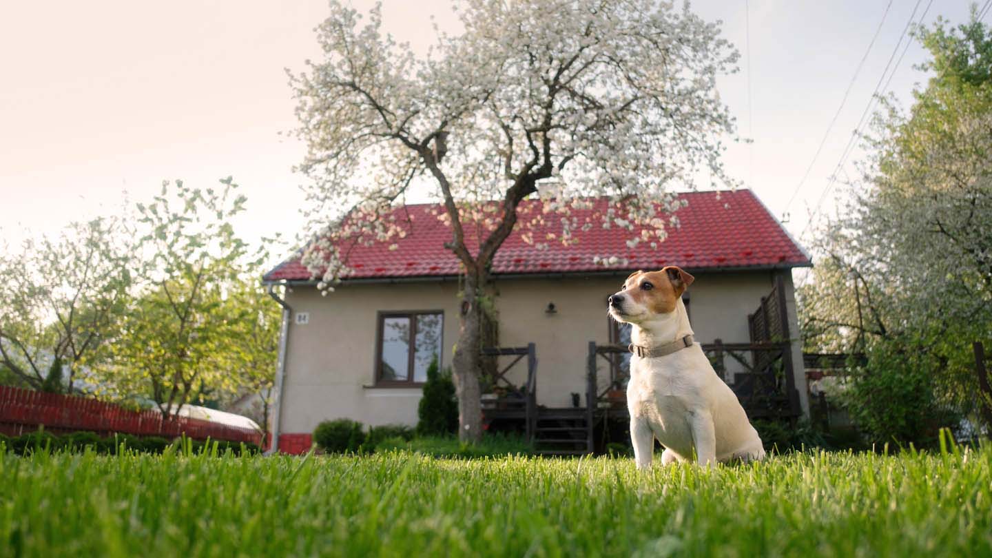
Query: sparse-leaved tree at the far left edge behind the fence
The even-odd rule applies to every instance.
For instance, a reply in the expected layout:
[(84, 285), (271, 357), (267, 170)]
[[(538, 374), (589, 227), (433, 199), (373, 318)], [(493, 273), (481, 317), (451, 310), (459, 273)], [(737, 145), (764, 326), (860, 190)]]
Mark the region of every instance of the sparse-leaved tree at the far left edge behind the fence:
[(35, 389), (61, 359), (67, 375), (49, 389), (73, 389), (76, 374), (106, 356), (133, 276), (128, 223), (69, 223), (51, 238), (27, 240), (0, 255), (0, 364)]

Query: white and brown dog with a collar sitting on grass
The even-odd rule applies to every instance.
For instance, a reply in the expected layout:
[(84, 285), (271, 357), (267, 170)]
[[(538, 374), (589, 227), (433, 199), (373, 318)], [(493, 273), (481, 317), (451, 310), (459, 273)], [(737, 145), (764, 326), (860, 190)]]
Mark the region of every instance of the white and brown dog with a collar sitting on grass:
[(694, 278), (678, 266), (638, 271), (608, 299), (609, 315), (631, 324), (627, 407), (638, 469), (651, 465), (655, 438), (662, 465), (765, 457), (761, 438), (730, 387), (716, 375), (692, 328), (682, 293)]

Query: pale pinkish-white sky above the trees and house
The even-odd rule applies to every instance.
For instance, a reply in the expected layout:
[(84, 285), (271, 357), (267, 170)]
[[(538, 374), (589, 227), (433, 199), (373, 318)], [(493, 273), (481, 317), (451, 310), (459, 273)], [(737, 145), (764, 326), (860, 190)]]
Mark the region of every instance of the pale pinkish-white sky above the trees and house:
[[(359, 9), (372, 4), (352, 0)], [(729, 144), (728, 173), (807, 243), (810, 213), (829, 214), (844, 190), (829, 177), (873, 91), (888, 83), (905, 106), (926, 80), (914, 68), (926, 60), (919, 44), (901, 56), (911, 14), (956, 24), (969, 6), (692, 2), (704, 19), (723, 21), (723, 36), (741, 53), (740, 71), (718, 88), (753, 142)], [(252, 242), (297, 234), (306, 179), (292, 169), (305, 147), (287, 135), (297, 122), (286, 70), (319, 58), (313, 28), (326, 16), (324, 0), (0, 4), (0, 250), (72, 220), (119, 213), (163, 180), (205, 188), (226, 176), (248, 199), (235, 223), (240, 234)], [(434, 38), (432, 16), (442, 30), (457, 30), (445, 0), (384, 0), (383, 16), (386, 31), (418, 52)], [(856, 145), (839, 176), (855, 176), (864, 157)]]

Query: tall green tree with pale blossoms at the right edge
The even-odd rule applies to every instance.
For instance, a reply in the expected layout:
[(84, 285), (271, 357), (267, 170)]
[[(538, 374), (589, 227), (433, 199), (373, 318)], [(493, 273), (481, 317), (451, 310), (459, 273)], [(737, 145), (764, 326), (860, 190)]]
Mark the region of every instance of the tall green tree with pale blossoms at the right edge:
[[(907, 113), (883, 99), (865, 180), (818, 234), (823, 257), (800, 293), (806, 346), (864, 350), (865, 374), (923, 370), (904, 413), (978, 410), (992, 427), (971, 357), (992, 338), (992, 35), (974, 10), (915, 35), (932, 77)], [(868, 391), (879, 385), (855, 377), (853, 399), (886, 403)]]

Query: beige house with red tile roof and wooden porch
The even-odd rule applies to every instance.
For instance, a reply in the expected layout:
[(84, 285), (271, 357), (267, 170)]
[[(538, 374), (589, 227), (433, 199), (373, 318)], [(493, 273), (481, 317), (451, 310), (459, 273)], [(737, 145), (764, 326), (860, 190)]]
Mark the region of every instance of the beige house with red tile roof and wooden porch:
[[(567, 246), (537, 246), (519, 231), (507, 239), (492, 266), (504, 350), (490, 351), (503, 354), (492, 357), (498, 362), (490, 384), (526, 404), (494, 405), (489, 396), (487, 421), (520, 417), (540, 439), (547, 415), (559, 428), (545, 430), (574, 430), (566, 440), (587, 441), (576, 449), (591, 450), (597, 417), (607, 409), (625, 412), (607, 399), (623, 386), (629, 332), (608, 320), (606, 297), (632, 271), (665, 265), (695, 276), (685, 295), (695, 339), (749, 414), (808, 413), (792, 280), (793, 268), (811, 265), (808, 254), (749, 190), (681, 197), (687, 203), (676, 210), (681, 225), (656, 247), (629, 247), (629, 231), (601, 225), (576, 231), (577, 242)], [(541, 204), (525, 201), (522, 210)], [(582, 210), (602, 211), (606, 204), (596, 200)], [(406, 236), (392, 246), (353, 246), (351, 271), (335, 292), (321, 296), (299, 259), (264, 277), (287, 286), (290, 319), (274, 410), (283, 451), (309, 448), (310, 432), (326, 419), (416, 424), (428, 364), (434, 356), (450, 364), (459, 275), (443, 247), (449, 229), (436, 216), (438, 206), (397, 210), (409, 215)], [(535, 232), (541, 237), (540, 226)], [(531, 365), (511, 366), (528, 348)]]

